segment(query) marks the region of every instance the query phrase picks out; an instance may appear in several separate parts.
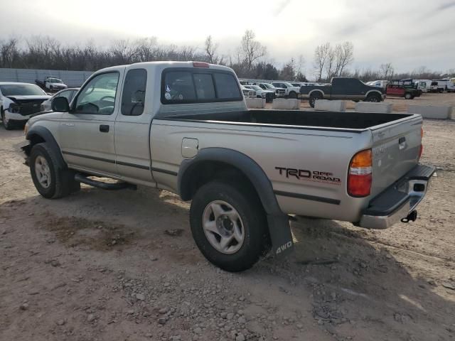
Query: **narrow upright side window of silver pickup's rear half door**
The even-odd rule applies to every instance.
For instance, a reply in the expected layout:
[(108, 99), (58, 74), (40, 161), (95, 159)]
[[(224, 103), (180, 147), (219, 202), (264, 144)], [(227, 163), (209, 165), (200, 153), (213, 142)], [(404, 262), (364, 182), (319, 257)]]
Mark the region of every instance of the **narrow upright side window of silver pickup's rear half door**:
[(144, 112), (146, 83), (146, 70), (127, 72), (122, 93), (122, 115), (139, 116)]

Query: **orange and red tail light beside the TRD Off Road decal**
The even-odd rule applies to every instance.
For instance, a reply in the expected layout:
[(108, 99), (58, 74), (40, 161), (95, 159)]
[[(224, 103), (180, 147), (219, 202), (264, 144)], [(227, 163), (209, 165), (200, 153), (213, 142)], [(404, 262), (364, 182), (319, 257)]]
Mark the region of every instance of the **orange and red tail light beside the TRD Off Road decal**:
[(373, 182), (373, 157), (371, 149), (359, 151), (349, 164), (348, 194), (351, 197), (370, 195)]

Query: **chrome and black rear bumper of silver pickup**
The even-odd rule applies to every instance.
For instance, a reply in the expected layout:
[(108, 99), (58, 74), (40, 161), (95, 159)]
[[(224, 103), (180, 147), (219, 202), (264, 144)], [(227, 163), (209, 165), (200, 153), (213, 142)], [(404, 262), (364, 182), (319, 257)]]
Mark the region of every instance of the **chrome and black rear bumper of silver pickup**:
[(417, 165), (403, 178), (370, 201), (358, 225), (368, 229), (387, 229), (406, 218), (422, 201), (434, 167)]

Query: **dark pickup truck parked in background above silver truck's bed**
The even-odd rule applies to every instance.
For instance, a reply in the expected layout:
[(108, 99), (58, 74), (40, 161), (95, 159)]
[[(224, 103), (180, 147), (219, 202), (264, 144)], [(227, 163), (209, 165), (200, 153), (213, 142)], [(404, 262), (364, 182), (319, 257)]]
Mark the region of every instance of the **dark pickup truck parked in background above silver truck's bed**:
[(365, 85), (356, 78), (333, 77), (330, 85), (306, 85), (300, 88), (301, 98), (308, 98), (310, 106), (318, 99), (349, 99), (355, 102), (382, 102), (385, 94), (380, 87)]

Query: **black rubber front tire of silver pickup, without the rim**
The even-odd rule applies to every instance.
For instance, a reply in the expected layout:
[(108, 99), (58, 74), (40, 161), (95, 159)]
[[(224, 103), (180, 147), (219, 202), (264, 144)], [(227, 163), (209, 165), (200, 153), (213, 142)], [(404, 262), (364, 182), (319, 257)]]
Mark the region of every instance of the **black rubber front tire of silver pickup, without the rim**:
[[(42, 156), (47, 161), (50, 180), (49, 185), (45, 188), (38, 180), (36, 175), (36, 158)], [(61, 169), (58, 166), (58, 158), (56, 152), (46, 143), (36, 144), (31, 149), (29, 165), (31, 178), (35, 185), (38, 193), (48, 199), (57, 199), (59, 197), (65, 197), (70, 193), (80, 190), (80, 183), (74, 180), (74, 171), (70, 171), (68, 168)]]

